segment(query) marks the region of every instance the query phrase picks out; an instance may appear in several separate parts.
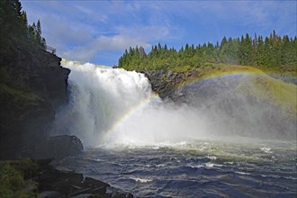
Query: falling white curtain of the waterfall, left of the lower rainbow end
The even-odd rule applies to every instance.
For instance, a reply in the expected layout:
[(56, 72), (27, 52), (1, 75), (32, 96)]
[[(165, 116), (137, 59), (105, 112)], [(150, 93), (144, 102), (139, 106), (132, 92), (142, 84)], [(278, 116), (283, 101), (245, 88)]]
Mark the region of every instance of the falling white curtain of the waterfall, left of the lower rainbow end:
[(71, 69), (70, 102), (58, 113), (56, 130), (67, 130), (86, 145), (99, 143), (114, 121), (152, 96), (148, 79), (136, 72), (72, 61), (64, 67)]

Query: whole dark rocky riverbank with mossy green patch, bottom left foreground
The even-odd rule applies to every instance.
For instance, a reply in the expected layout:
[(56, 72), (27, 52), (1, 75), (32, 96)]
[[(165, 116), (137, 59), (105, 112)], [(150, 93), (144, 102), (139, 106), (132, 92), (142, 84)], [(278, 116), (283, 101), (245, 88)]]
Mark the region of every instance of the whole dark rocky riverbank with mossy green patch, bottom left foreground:
[(1, 161), (1, 197), (114, 197), (131, 198), (110, 184), (83, 174), (56, 169), (52, 159)]

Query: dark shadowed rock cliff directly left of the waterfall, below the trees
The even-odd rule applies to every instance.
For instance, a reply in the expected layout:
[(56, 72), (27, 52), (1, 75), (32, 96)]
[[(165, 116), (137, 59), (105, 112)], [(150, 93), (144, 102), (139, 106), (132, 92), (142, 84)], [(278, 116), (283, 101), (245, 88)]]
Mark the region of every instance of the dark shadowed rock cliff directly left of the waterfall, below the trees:
[(41, 49), (16, 47), (7, 54), (11, 57), (0, 58), (0, 159), (39, 157), (55, 110), (67, 103), (70, 70), (60, 66), (61, 58)]

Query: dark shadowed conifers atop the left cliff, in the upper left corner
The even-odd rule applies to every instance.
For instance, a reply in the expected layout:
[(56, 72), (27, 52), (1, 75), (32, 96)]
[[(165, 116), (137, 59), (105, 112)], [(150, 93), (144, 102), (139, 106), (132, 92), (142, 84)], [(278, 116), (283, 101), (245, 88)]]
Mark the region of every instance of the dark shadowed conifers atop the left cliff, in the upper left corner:
[(19, 0), (0, 1), (0, 27), (2, 56), (15, 46), (46, 47), (46, 40), (41, 36), (40, 20), (28, 24), (27, 14)]

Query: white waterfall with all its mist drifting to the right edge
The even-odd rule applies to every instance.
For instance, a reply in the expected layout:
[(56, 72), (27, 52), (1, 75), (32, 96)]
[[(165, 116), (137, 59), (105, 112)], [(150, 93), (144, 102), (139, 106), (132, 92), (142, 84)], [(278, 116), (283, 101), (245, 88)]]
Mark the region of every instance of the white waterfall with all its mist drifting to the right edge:
[(72, 61), (64, 61), (64, 67), (71, 69), (70, 101), (57, 113), (54, 131), (74, 134), (86, 147), (296, 136), (296, 126), (280, 119), (278, 108), (237, 91), (238, 82), (251, 76), (199, 85), (193, 98), (198, 103), (175, 105), (161, 101), (143, 74)]

